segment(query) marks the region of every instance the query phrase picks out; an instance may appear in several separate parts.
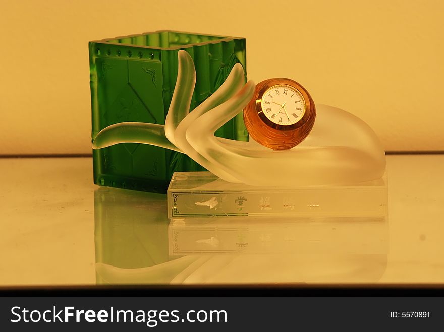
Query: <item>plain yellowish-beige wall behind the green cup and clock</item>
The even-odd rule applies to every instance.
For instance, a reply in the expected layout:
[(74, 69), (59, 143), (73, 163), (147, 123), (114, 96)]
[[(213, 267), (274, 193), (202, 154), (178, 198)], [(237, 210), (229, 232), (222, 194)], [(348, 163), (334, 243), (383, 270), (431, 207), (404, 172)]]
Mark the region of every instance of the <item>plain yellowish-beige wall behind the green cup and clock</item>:
[(444, 150), (444, 2), (0, 3), (0, 155), (90, 153), (88, 41), (162, 29), (247, 38), (247, 71), (361, 117), (386, 150)]

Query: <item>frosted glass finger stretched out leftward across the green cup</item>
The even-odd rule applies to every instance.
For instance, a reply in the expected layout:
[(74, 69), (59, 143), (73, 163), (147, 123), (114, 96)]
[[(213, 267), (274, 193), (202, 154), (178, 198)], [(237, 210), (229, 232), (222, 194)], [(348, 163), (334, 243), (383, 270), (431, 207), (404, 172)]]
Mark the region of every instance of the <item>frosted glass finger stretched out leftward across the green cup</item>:
[(143, 143), (182, 152), (165, 136), (163, 125), (143, 122), (123, 122), (102, 129), (92, 142), (93, 149), (118, 143)]

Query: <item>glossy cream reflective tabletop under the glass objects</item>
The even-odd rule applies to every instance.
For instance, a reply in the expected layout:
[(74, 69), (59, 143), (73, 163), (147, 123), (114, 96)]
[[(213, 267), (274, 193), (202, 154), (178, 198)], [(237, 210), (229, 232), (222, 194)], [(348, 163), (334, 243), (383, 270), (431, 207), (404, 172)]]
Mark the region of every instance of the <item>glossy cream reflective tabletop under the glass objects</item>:
[(165, 195), (94, 185), (91, 158), (3, 158), (0, 287), (441, 284), (442, 169), (444, 155), (387, 156), (388, 225), (190, 224), (170, 223)]

